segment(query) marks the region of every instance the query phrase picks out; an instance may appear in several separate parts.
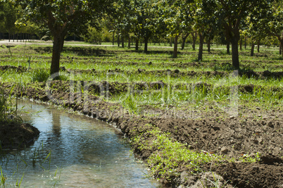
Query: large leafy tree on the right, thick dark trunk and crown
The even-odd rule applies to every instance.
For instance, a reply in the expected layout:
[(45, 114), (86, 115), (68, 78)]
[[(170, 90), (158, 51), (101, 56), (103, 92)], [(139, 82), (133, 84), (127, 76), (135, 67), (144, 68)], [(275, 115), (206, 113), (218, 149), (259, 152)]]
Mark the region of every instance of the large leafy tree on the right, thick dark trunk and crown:
[[(207, 0), (208, 1), (208, 0)], [(239, 69), (239, 51), (238, 42), (240, 39), (241, 20), (248, 15), (253, 15), (252, 21), (255, 21), (259, 15), (269, 11), (272, 0), (213, 0), (223, 27), (225, 28), (227, 40), (232, 44), (232, 65)]]

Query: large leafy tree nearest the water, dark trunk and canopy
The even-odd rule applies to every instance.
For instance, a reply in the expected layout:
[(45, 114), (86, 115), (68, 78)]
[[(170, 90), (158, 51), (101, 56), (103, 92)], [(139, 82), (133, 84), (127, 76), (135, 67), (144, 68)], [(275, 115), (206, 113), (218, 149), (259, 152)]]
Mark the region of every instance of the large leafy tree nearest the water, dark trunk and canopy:
[[(58, 73), (64, 38), (68, 33), (81, 34), (87, 31), (89, 20), (98, 19), (108, 10), (110, 0), (16, 0), (23, 6), (25, 18), (49, 27), (53, 36), (53, 51), (50, 73)], [(92, 23), (92, 22), (91, 22)]]

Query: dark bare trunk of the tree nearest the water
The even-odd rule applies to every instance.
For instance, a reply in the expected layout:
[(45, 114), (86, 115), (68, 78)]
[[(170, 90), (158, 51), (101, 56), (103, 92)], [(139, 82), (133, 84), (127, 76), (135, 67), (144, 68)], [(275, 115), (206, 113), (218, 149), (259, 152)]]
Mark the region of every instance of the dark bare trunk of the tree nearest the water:
[(52, 61), (50, 67), (50, 74), (58, 73), (60, 68), (60, 55), (61, 46), (64, 41), (64, 37), (61, 35), (54, 36), (53, 51), (52, 51)]

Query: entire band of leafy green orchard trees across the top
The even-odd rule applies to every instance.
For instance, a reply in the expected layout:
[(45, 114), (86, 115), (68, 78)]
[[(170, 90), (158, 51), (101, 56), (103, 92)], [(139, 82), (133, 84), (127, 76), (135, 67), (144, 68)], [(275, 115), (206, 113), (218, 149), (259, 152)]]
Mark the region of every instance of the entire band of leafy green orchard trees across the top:
[(253, 56), (255, 45), (283, 44), (282, 0), (1, 1), (0, 18), (1, 39), (53, 39), (56, 57), (64, 39), (136, 50), (143, 44), (144, 52), (150, 42), (170, 44), (173, 58), (178, 44), (184, 49), (190, 43), (199, 50), (198, 61), (203, 44), (208, 51), (211, 44), (226, 44), (239, 69), (242, 46), (251, 45)]

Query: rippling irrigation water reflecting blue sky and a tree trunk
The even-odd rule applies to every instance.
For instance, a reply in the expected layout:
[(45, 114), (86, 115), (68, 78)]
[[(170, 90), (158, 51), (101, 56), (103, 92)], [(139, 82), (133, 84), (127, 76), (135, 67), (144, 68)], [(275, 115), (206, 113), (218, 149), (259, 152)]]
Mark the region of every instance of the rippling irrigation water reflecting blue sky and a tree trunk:
[(30, 101), (18, 108), (40, 135), (1, 156), (6, 187), (161, 187), (111, 125)]

